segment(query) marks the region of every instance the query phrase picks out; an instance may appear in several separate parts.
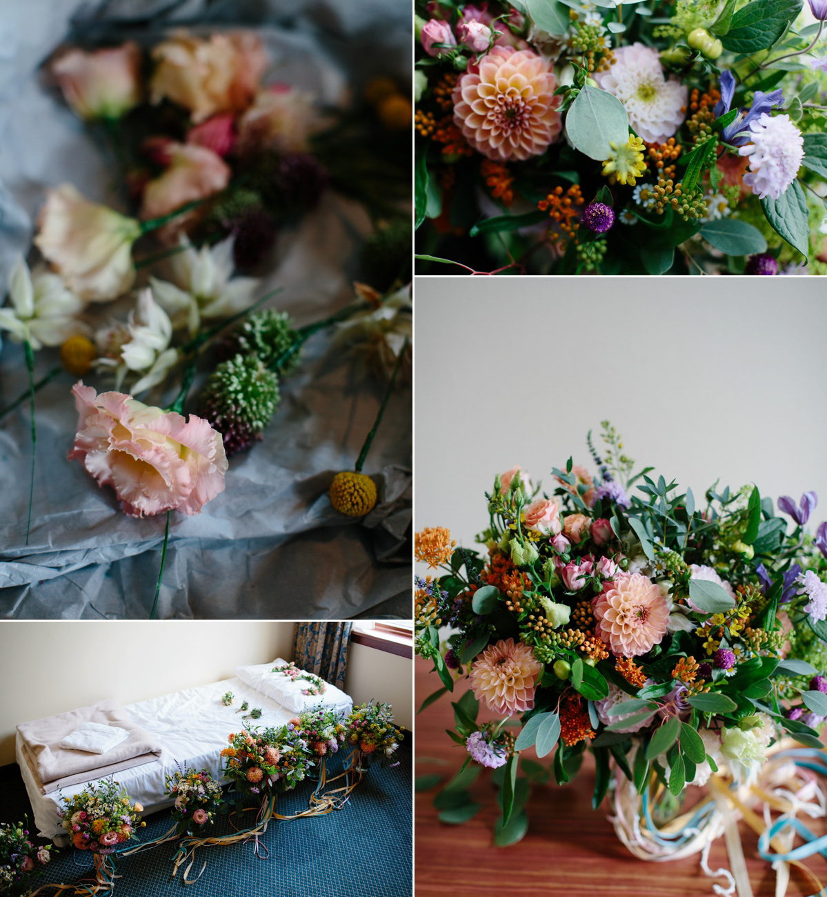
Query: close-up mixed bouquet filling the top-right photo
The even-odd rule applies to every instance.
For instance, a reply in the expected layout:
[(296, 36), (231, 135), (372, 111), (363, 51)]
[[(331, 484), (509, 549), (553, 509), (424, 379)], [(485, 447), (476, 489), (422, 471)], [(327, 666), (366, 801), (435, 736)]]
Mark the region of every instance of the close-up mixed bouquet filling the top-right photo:
[(822, 0), (416, 9), (423, 273), (827, 272)]

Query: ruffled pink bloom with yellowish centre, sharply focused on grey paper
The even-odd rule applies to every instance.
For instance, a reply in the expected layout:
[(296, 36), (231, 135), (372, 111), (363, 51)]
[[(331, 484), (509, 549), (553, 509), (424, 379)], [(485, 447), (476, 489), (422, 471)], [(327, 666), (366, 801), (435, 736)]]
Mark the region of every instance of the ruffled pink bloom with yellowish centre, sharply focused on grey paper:
[(132, 517), (197, 514), (224, 489), (222, 434), (195, 414), (163, 412), (123, 393), (72, 388), (79, 416), (69, 458), (115, 490)]

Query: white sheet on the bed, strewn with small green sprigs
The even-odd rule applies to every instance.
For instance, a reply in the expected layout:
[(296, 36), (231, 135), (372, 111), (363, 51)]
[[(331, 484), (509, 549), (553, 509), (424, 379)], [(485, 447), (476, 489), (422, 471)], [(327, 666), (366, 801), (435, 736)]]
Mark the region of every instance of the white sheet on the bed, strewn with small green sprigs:
[[(222, 705), (221, 699), (225, 692), (235, 695), (235, 701), (230, 707)], [(345, 698), (346, 701), (336, 703), (327, 699), (326, 695), (320, 695), (319, 702), (342, 713), (350, 713), (353, 701), (346, 696)], [(227, 736), (231, 732), (238, 732), (242, 727), (241, 717), (245, 714), (236, 712), (242, 701), (248, 701), (250, 710), (260, 707), (264, 711), (261, 718), (255, 721), (256, 727), (283, 726), (294, 716), (291, 710), (283, 708), (278, 701), (266, 698), (235, 677), (126, 705), (129, 717), (157, 738), (163, 750), (160, 760), (144, 763), (143, 766), (135, 766), (115, 775), (115, 780), (126, 788), (129, 797), (144, 805), (144, 814), (172, 806), (172, 800), (164, 797), (164, 777), (176, 771), (176, 762), (182, 767), (186, 762), (191, 769), (205, 769), (214, 779), (221, 782), (225, 780), (221, 772), (221, 752), (227, 746)], [(44, 838), (65, 834), (57, 817), (60, 795), (57, 791), (48, 795), (40, 793), (29, 765), (23, 759), (21, 747), (22, 739), (18, 733), (17, 763), (29, 794), (39, 834)], [(63, 793), (65, 797), (72, 797), (83, 791), (86, 784), (88, 782), (64, 788)]]

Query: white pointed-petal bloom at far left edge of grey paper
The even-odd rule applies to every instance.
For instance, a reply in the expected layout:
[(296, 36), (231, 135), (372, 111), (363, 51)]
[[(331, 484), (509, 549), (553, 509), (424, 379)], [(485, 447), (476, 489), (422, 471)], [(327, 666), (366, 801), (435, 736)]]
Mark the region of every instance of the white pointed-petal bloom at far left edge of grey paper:
[(57, 274), (43, 268), (30, 273), (22, 256), (9, 274), (9, 299), (12, 307), (0, 309), (0, 330), (8, 330), (15, 342), (28, 341), (35, 351), (90, 332), (74, 317), (86, 303), (67, 290)]

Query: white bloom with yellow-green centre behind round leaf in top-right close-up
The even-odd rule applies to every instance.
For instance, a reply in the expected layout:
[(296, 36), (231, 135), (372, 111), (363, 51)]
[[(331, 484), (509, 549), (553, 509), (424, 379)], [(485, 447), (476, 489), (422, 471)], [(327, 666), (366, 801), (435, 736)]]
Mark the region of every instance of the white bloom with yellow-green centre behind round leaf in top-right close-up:
[(664, 78), (657, 50), (634, 43), (614, 51), (614, 65), (595, 75), (603, 90), (617, 97), (629, 113), (635, 134), (648, 144), (662, 144), (683, 123), (687, 88), (675, 75)]

